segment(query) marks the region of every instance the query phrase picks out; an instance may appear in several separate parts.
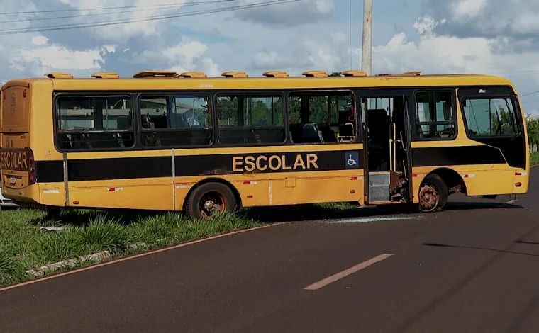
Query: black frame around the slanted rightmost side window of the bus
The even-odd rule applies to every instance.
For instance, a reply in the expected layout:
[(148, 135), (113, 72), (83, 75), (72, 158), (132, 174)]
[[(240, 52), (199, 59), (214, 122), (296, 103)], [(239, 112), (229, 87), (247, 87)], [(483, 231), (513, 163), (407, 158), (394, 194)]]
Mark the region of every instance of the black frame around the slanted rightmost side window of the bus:
[[(513, 91), (511, 86), (462, 86), (460, 89), (508, 89), (510, 91), (509, 94), (466, 94), (465, 96), (459, 95), (459, 106), (460, 110), (462, 112), (462, 121), (464, 123), (466, 137), (469, 140), (481, 140), (481, 139), (503, 139), (503, 138), (511, 138), (511, 137), (521, 137), (524, 135), (524, 128), (523, 128), (523, 118), (522, 118), (522, 111), (520, 107), (520, 103), (518, 101), (518, 96)], [(459, 90), (460, 90), (459, 89)], [(457, 91), (458, 93), (458, 91)], [(511, 103), (513, 104), (513, 111), (515, 113), (515, 121), (516, 121), (516, 127), (518, 129), (518, 132), (515, 134), (504, 134), (504, 135), (470, 135), (469, 133), (469, 127), (468, 127), (468, 120), (466, 118), (466, 113), (464, 109), (464, 100), (465, 99), (505, 99), (509, 98), (511, 100)]]

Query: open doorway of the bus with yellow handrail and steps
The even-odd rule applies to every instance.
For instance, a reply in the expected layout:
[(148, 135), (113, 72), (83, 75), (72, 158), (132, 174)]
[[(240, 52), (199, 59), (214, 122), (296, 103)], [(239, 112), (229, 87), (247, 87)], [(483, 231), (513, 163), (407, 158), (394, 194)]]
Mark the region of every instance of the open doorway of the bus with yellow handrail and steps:
[(398, 93), (359, 93), (366, 142), (367, 203), (403, 203), (411, 198), (409, 95)]

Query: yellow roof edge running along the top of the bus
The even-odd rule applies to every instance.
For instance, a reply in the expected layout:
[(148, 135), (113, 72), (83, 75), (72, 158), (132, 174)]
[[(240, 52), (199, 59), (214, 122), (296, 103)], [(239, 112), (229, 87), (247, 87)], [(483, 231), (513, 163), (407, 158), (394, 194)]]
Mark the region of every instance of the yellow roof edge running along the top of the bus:
[(9, 86), (30, 86), (38, 81), (52, 81), (59, 91), (144, 91), (144, 90), (223, 90), (223, 89), (347, 89), (415, 86), (513, 86), (502, 77), (473, 74), (445, 74), (384, 77), (249, 77), (249, 78), (145, 78), (145, 79), (19, 79)]

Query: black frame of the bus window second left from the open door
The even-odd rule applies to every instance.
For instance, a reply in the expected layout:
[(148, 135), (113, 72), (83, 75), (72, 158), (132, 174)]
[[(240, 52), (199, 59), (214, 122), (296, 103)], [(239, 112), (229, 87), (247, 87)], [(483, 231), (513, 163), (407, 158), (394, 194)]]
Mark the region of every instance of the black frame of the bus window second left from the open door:
[[(279, 96), (282, 98), (282, 107), (283, 107), (283, 125), (282, 127), (284, 128), (284, 140), (282, 140), (282, 142), (273, 142), (273, 143), (260, 143), (260, 144), (252, 144), (252, 143), (243, 143), (243, 144), (223, 144), (221, 142), (221, 138), (220, 138), (220, 135), (219, 135), (219, 132), (221, 130), (221, 126), (219, 126), (219, 121), (218, 121), (218, 110), (217, 110), (217, 98), (219, 97), (230, 97), (230, 96), (243, 96), (243, 97), (254, 97), (254, 98), (264, 98), (264, 97), (276, 97), (276, 96)], [(214, 137), (214, 146), (215, 147), (268, 147), (268, 146), (281, 146), (281, 145), (287, 145), (289, 142), (289, 126), (288, 126), (288, 120), (287, 120), (287, 115), (288, 115), (288, 110), (287, 110), (287, 106), (288, 106), (288, 101), (287, 101), (287, 96), (286, 96), (286, 93), (282, 90), (257, 90), (257, 89), (253, 89), (253, 90), (230, 90), (230, 91), (226, 91), (226, 90), (221, 90), (221, 91), (215, 91), (214, 94), (213, 94), (213, 106), (215, 106), (213, 108), (213, 115), (214, 115), (214, 119), (213, 119), (213, 123), (215, 124), (215, 137)], [(237, 127), (238, 128), (238, 127)], [(280, 126), (251, 126), (251, 127), (248, 127), (248, 128), (251, 128), (251, 129), (266, 129), (266, 128), (281, 128)]]

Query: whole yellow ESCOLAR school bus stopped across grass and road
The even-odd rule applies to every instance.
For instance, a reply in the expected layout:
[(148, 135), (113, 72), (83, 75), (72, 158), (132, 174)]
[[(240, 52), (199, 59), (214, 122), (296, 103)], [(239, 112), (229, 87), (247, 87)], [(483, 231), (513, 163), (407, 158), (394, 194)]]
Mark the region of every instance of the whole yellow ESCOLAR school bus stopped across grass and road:
[(50, 73), (1, 91), (2, 194), (43, 208), (354, 202), (443, 208), (528, 191), (513, 84), (358, 71)]

